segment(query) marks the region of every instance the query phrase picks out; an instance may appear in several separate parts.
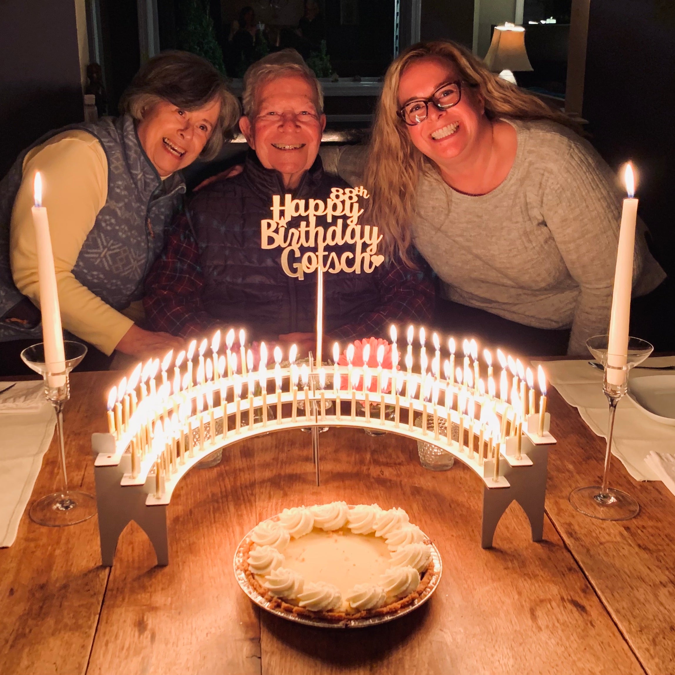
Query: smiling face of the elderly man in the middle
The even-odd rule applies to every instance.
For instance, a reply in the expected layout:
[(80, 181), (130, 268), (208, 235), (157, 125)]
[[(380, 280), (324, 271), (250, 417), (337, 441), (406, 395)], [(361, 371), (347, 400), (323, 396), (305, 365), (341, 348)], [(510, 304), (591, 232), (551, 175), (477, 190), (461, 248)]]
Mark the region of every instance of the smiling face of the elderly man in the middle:
[(297, 187), (319, 152), (326, 116), (316, 110), (313, 93), (300, 76), (275, 78), (257, 91), (255, 117), (239, 120), (260, 163), (279, 171), (286, 188)]

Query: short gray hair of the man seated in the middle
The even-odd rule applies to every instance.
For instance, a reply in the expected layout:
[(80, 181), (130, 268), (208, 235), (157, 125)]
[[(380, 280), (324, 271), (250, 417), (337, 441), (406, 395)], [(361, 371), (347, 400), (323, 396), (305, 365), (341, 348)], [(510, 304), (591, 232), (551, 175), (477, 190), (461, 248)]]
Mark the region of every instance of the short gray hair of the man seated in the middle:
[(244, 92), (241, 99), (247, 117), (255, 117), (255, 97), (261, 86), (284, 75), (303, 78), (311, 87), (317, 113), (324, 113), (324, 92), (314, 71), (307, 67), (307, 63), (295, 49), (282, 49), (256, 61), (244, 74)]

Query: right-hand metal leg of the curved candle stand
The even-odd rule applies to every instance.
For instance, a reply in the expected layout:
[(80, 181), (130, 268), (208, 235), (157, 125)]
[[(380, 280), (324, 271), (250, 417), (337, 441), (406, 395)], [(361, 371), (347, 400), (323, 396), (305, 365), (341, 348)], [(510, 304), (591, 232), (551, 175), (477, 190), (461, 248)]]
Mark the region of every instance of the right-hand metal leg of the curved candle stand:
[(491, 548), (495, 530), (501, 516), (514, 499), (522, 506), (530, 520), (532, 541), (541, 541), (544, 533), (544, 502), (546, 497), (546, 473), (549, 450), (546, 445), (534, 445), (523, 438), (522, 452), (532, 460), (532, 466), (509, 466), (501, 458), (503, 476), (510, 483), (505, 489), (484, 488), (483, 491), (483, 548)]

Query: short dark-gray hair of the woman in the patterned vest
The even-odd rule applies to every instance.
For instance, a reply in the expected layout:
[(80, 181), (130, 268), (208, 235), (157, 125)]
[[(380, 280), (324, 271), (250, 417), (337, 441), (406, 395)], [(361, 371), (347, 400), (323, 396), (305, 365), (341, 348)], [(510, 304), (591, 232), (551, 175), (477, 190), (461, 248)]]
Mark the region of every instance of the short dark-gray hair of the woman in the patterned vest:
[(218, 122), (201, 151), (201, 159), (214, 159), (220, 153), (239, 119), (239, 101), (228, 90), (222, 74), (206, 59), (187, 51), (163, 51), (145, 63), (122, 94), (120, 113), (141, 120), (144, 111), (159, 101), (188, 111), (220, 101)]

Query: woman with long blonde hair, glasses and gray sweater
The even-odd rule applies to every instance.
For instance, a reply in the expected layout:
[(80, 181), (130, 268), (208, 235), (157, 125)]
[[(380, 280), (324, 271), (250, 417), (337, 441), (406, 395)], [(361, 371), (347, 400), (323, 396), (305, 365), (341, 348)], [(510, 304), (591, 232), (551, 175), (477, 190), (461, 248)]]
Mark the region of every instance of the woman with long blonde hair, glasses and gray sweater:
[[(367, 158), (364, 157), (367, 153)], [(372, 193), (368, 217), (443, 281), (436, 323), (530, 354), (586, 354), (609, 323), (622, 194), (563, 113), (449, 42), (384, 77), (370, 148), (322, 151)], [(634, 296), (665, 278), (641, 225)]]

